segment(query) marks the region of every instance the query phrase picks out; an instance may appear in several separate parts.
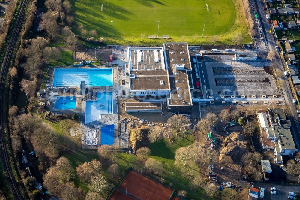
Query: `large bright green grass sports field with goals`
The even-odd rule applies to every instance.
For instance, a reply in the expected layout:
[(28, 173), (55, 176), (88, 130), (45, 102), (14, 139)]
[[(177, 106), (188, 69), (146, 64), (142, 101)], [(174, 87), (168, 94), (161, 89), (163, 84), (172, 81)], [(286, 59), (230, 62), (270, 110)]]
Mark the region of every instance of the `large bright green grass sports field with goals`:
[(247, 24), (241, 22), (239, 6), (234, 1), (75, 0), (74, 32), (89, 37), (89, 31), (95, 29), (98, 32), (95, 38), (109, 39), (113, 24), (114, 40), (119, 38), (135, 42), (138, 38), (157, 36), (160, 21), (159, 37), (170, 35), (175, 40), (187, 40), (196, 34), (202, 37), (206, 21), (203, 34), (206, 39), (211, 36), (224, 37), (235, 31), (244, 35), (247, 33)]

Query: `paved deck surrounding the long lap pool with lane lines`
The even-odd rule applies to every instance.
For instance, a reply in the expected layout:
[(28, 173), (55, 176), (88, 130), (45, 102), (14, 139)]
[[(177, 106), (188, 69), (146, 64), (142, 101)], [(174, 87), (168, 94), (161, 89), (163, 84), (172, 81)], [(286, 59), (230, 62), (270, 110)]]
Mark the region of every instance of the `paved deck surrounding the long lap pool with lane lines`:
[[(49, 67), (49, 70), (47, 71), (47, 74), (49, 76), (47, 85), (49, 87), (53, 87), (53, 80), (54, 80), (54, 69), (113, 69), (113, 86), (111, 88), (117, 88), (118, 87), (118, 70), (116, 70), (117, 66), (104, 66), (104, 65), (95, 65), (95, 66), (88, 66), (88, 65), (82, 65), (79, 67), (75, 67), (72, 65), (64, 65), (64, 66), (53, 66)], [(77, 86), (78, 87), (78, 86)], [(73, 87), (76, 88), (76, 87)], [(88, 88), (110, 88), (110, 87), (88, 87)]]

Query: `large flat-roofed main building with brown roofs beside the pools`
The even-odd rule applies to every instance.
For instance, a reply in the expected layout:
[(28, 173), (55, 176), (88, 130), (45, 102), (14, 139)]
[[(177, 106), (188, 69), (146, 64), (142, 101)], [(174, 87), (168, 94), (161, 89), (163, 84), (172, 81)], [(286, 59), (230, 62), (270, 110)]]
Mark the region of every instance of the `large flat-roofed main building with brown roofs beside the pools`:
[(187, 43), (129, 47), (128, 60), (130, 95), (167, 101), (170, 111), (187, 112), (183, 107), (192, 106), (187, 76), (192, 66)]

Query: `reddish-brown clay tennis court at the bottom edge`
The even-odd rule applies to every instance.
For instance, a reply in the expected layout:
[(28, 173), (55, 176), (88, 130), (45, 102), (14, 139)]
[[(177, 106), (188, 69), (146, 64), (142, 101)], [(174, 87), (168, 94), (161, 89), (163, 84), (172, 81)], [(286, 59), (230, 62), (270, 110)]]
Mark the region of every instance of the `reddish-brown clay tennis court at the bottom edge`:
[[(121, 185), (117, 190), (128, 196), (132, 195), (139, 199), (150, 199), (150, 200), (165, 200), (170, 199), (174, 190), (168, 187), (162, 186), (147, 177), (137, 174), (134, 171), (129, 171)], [(125, 195), (121, 195), (119, 191), (114, 191), (110, 199), (132, 199), (125, 198)], [(115, 193), (116, 192), (116, 193)], [(113, 198), (114, 197), (114, 198)]]

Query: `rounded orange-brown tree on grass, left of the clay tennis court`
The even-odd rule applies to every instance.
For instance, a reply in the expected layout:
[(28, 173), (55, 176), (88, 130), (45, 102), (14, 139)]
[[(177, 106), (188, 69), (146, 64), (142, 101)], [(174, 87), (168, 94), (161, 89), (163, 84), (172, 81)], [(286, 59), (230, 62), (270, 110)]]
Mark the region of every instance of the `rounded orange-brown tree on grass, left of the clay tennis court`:
[(76, 172), (80, 180), (91, 180), (95, 174), (100, 173), (101, 163), (98, 160), (93, 159), (91, 162), (85, 162), (82, 165), (76, 167)]

